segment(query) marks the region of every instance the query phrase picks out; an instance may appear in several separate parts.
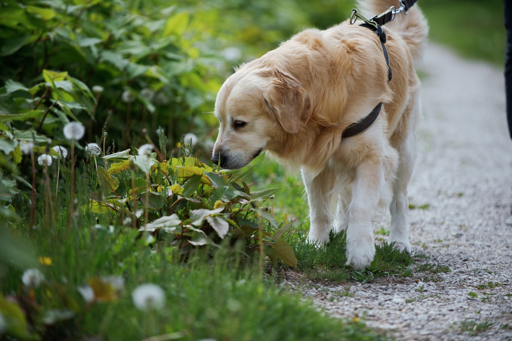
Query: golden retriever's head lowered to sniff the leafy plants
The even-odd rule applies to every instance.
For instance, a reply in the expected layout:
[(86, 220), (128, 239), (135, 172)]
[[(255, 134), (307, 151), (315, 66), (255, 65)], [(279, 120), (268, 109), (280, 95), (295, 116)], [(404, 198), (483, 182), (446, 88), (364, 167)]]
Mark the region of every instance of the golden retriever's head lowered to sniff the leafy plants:
[(301, 126), (305, 96), (289, 73), (244, 65), (222, 85), (215, 103), (220, 121), (212, 162), (227, 169), (241, 168), (283, 135)]

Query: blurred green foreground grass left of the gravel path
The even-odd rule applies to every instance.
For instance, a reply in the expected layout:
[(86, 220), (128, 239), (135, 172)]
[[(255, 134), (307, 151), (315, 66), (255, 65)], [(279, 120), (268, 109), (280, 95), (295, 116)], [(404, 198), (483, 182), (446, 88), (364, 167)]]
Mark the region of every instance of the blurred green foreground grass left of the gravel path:
[[(16, 268), (20, 264), (14, 262), (8, 265), (0, 286), (11, 302), (18, 302), (26, 311), (28, 321), (38, 326), (29, 329), (30, 334), (15, 336), (36, 339), (39, 334), (52, 340), (141, 340), (151, 336), (180, 340), (379, 339), (362, 323), (318, 313), (275, 286), (271, 278), (241, 266), (240, 258), (231, 252), (221, 249), (212, 259), (197, 256), (183, 263), (172, 247), (150, 248), (137, 237), (131, 230), (121, 233), (101, 228), (58, 234), (36, 231), (31, 238), (34, 248), (25, 250), (33, 258), (45, 257), (47, 265), (38, 266), (45, 280), (30, 288), (23, 286), (23, 266)], [(80, 295), (79, 288), (107, 276), (121, 278), (123, 285), (116, 290), (106, 284), (101, 289), (95, 287), (93, 301)], [(163, 307), (141, 310), (134, 305), (132, 294), (143, 283), (163, 289)]]

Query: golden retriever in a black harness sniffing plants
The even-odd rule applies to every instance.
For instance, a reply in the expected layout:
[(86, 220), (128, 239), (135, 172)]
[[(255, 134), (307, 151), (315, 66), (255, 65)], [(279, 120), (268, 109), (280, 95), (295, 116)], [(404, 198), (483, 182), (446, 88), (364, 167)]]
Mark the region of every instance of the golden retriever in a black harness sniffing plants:
[[(398, 0), (361, 1), (370, 16)], [(369, 16), (369, 17), (370, 17)], [(389, 206), (389, 242), (411, 252), (407, 186), (415, 163), (420, 116), (421, 57), (428, 25), (417, 6), (383, 27), (393, 78), (379, 37), (349, 20), (327, 30), (306, 29), (261, 58), (243, 64), (219, 90), (220, 121), (212, 161), (236, 169), (262, 151), (300, 168), (309, 201), (309, 240), (329, 242), (347, 231), (347, 264), (370, 265), (373, 224)], [(352, 123), (382, 102), (364, 132), (342, 138)]]

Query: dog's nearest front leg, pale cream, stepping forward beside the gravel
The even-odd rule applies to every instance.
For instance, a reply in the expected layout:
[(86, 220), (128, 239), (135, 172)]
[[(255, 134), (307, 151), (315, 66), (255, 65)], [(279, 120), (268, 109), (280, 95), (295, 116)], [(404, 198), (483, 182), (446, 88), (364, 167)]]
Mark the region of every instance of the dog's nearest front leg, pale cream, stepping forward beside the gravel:
[(356, 170), (347, 228), (347, 264), (364, 269), (375, 256), (372, 218), (378, 208), (385, 186), (386, 168), (382, 162), (369, 158)]

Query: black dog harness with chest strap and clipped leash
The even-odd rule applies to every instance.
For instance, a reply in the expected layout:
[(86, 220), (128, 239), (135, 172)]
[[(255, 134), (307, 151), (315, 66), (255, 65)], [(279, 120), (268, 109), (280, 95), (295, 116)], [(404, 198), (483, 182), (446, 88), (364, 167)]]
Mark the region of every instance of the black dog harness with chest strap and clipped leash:
[[(382, 25), (385, 25), (387, 22), (393, 21), (395, 19), (396, 14), (403, 12), (407, 15), (409, 9), (417, 2), (418, 0), (399, 0), (400, 7), (397, 9), (395, 6), (391, 6), (386, 12), (382, 12), (378, 15), (375, 15), (371, 19), (367, 19), (365, 16), (360, 14), (356, 9), (352, 10), (352, 15), (350, 16), (350, 24), (355, 24), (355, 21), (359, 18), (364, 21), (359, 26), (370, 29), (379, 37), (380, 47), (382, 48), (382, 54), (386, 59), (386, 64), (388, 65), (388, 82), (393, 78), (393, 71), (389, 66), (389, 53), (388, 49), (386, 49), (386, 32), (382, 29)], [(370, 128), (371, 125), (377, 120), (379, 116), (380, 109), (382, 108), (382, 102), (377, 104), (375, 108), (366, 116), (356, 123), (352, 123), (349, 125), (342, 133), (342, 138), (350, 138), (352, 136), (358, 135), (364, 132), (366, 129)]]

